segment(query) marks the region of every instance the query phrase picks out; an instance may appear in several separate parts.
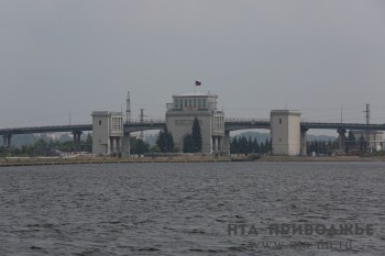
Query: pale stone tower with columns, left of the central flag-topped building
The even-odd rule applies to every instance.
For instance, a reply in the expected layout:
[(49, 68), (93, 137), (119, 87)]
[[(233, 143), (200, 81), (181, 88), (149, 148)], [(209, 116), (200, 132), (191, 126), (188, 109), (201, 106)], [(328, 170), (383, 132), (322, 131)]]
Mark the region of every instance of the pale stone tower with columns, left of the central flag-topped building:
[(92, 112), (92, 154), (118, 155), (122, 152), (123, 114), (121, 112)]

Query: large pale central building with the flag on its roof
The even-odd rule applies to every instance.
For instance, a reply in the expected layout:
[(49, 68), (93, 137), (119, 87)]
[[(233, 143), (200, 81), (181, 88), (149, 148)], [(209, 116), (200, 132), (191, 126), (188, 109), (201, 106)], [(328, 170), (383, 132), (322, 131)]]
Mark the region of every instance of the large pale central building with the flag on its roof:
[(185, 136), (193, 133), (195, 118), (200, 124), (201, 153), (223, 151), (224, 113), (218, 110), (218, 96), (211, 93), (177, 94), (173, 96), (173, 103), (167, 103), (166, 108), (166, 125), (179, 152), (184, 151)]

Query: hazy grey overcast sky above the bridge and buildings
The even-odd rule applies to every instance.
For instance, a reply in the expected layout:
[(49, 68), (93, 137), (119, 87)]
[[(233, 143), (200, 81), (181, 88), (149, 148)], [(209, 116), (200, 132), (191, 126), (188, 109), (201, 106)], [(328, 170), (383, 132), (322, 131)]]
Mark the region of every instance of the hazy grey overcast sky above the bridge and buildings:
[(0, 1), (0, 127), (90, 123), (128, 90), (164, 119), (195, 79), (229, 118), (385, 123), (385, 1)]

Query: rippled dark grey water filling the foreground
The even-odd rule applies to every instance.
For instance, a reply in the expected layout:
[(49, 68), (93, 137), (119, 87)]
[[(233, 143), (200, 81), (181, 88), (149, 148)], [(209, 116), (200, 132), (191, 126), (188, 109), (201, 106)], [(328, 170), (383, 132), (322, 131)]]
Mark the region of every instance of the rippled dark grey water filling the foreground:
[[(1, 168), (0, 255), (384, 255), (384, 171), (385, 163)], [(282, 223), (370, 224), (374, 234), (270, 234)]]

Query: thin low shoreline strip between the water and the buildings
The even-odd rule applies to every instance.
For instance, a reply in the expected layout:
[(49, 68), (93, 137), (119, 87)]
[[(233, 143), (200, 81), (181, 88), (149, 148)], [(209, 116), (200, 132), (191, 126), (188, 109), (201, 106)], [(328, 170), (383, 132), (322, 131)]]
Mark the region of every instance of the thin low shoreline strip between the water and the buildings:
[(177, 156), (177, 157), (8, 157), (0, 158), (0, 167), (43, 166), (43, 165), (90, 165), (90, 164), (141, 164), (141, 163), (227, 163), (227, 162), (385, 162), (380, 156), (261, 156), (250, 159), (246, 156), (213, 157), (213, 156)]

